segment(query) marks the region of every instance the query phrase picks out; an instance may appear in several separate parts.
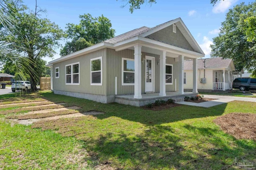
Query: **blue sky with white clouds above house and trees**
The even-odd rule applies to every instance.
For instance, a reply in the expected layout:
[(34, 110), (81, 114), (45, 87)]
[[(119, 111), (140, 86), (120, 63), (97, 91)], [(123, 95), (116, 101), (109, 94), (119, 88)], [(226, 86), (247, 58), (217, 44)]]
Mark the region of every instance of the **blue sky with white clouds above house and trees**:
[[(221, 22), (225, 20), (228, 9), (240, 4), (241, 0), (219, 1), (215, 6), (210, 0), (157, 0), (156, 4), (144, 4), (133, 14), (129, 5), (120, 8), (126, 2), (122, 0), (37, 0), (40, 8), (47, 10), (47, 18), (65, 30), (66, 23), (79, 23), (79, 15), (91, 14), (93, 17), (104, 15), (111, 20), (115, 35), (120, 35), (138, 27), (154, 27), (166, 21), (180, 17), (188, 27), (206, 57), (210, 57), (212, 38), (218, 35)], [(34, 10), (35, 0), (24, 0)], [(42, 16), (45, 17), (45, 16)], [(65, 41), (61, 41), (64, 45)], [(56, 49), (59, 53), (60, 49)], [(54, 59), (59, 58), (59, 54)], [(50, 58), (44, 58), (51, 61)]]

